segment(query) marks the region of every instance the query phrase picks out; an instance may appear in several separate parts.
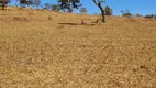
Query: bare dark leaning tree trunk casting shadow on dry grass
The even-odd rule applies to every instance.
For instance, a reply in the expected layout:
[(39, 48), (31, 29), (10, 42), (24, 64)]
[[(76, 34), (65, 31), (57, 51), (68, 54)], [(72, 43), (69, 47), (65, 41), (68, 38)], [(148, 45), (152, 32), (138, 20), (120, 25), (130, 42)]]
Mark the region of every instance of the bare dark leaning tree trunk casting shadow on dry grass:
[(102, 7), (102, 3), (104, 2), (104, 0), (92, 0), (92, 1), (101, 10), (102, 22), (104, 23), (105, 22), (105, 11), (104, 11), (104, 9)]

